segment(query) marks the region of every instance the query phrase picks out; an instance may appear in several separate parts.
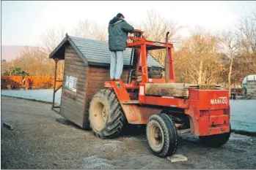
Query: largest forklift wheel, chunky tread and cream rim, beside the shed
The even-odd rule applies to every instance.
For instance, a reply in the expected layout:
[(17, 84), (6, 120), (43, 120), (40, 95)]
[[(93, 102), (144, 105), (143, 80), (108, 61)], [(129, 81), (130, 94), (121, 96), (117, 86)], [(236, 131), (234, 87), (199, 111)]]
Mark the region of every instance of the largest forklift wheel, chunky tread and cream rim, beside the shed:
[(89, 123), (101, 139), (111, 139), (122, 132), (127, 120), (114, 91), (103, 89), (95, 93), (89, 106)]

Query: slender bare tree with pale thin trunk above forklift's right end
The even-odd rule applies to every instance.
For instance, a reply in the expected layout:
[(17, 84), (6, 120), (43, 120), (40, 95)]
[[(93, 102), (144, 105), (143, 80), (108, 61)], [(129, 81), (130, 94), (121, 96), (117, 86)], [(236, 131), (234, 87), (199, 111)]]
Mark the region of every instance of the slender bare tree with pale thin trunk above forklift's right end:
[(230, 63), (229, 73), (228, 73), (228, 89), (229, 89), (229, 93), (231, 94), (231, 75), (232, 75), (233, 61), (234, 61), (235, 55), (237, 55), (237, 52), (238, 52), (238, 39), (233, 32), (223, 31), (220, 37), (220, 40), (224, 48), (226, 48), (225, 50), (227, 50), (227, 53), (225, 56), (227, 56)]

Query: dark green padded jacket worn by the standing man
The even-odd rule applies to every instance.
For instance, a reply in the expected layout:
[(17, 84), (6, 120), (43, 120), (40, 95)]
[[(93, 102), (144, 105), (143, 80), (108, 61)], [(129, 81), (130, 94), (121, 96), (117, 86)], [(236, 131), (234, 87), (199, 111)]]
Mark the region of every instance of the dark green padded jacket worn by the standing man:
[(125, 50), (127, 45), (127, 35), (134, 33), (134, 27), (126, 23), (121, 18), (114, 17), (109, 21), (109, 50)]

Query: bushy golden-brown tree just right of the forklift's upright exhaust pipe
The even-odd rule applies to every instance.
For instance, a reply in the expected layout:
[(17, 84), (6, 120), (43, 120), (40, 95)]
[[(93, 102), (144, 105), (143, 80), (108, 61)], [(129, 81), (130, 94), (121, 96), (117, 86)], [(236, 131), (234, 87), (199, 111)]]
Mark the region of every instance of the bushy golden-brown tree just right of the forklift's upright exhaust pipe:
[(203, 28), (191, 32), (191, 37), (183, 42), (174, 53), (175, 75), (180, 82), (211, 83), (215, 81), (222, 63), (217, 53), (217, 37)]

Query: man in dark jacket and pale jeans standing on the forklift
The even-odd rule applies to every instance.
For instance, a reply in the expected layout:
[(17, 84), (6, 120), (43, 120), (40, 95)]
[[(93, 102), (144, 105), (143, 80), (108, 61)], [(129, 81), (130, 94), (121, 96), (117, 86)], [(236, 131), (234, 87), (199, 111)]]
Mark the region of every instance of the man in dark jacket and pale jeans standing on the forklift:
[(118, 13), (109, 21), (109, 50), (111, 51), (110, 79), (120, 80), (123, 67), (123, 51), (126, 49), (128, 33), (134, 33), (134, 27), (126, 23), (124, 16)]

